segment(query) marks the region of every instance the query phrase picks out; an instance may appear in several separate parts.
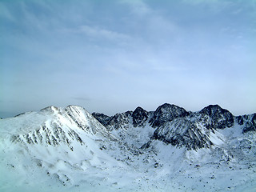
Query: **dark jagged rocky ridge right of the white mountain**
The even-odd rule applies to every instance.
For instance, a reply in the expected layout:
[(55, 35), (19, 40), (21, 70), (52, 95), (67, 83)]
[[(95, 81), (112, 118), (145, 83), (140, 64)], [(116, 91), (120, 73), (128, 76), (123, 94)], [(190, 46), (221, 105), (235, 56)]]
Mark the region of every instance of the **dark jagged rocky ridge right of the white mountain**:
[[(241, 126), (243, 133), (256, 129), (256, 114), (236, 117), (218, 105), (210, 105), (198, 112), (190, 112), (182, 107), (165, 103), (158, 106), (155, 111), (148, 112), (142, 107), (137, 107), (134, 112), (127, 111), (112, 117), (96, 113), (93, 115), (110, 132), (119, 130), (119, 135), (122, 135), (120, 134), (122, 130), (129, 132), (131, 127), (143, 129), (149, 126), (153, 134), (150, 135), (150, 141), (142, 146), (144, 148), (153, 140), (160, 140), (173, 146), (186, 146), (188, 150), (209, 148), (214, 145), (211, 135), (215, 131), (232, 128), (234, 125)], [(122, 138), (125, 138), (125, 134)]]

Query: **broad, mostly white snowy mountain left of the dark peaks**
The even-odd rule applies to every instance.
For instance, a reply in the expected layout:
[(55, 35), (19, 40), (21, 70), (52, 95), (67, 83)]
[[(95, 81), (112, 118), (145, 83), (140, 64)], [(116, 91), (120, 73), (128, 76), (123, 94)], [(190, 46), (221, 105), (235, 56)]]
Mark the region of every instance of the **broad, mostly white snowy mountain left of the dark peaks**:
[(80, 182), (91, 187), (107, 170), (118, 171), (113, 165), (119, 162), (103, 151), (116, 150), (117, 139), (80, 106), (49, 106), (2, 119), (0, 127), (0, 191), (58, 191)]

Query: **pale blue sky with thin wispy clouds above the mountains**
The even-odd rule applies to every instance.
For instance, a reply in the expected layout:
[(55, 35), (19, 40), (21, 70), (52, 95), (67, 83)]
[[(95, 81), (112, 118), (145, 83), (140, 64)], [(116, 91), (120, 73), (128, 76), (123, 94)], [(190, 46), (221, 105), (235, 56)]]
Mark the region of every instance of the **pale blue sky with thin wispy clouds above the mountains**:
[(0, 117), (163, 103), (256, 112), (254, 0), (0, 0)]

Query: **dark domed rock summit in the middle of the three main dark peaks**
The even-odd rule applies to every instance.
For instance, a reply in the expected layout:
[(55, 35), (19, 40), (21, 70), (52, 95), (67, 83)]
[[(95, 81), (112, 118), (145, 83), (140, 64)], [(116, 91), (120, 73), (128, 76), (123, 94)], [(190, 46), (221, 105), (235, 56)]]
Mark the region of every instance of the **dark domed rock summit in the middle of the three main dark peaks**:
[(153, 117), (150, 118), (150, 125), (158, 127), (165, 122), (174, 120), (174, 118), (185, 117), (188, 114), (182, 107), (165, 103), (162, 106), (158, 106), (158, 109), (154, 111)]

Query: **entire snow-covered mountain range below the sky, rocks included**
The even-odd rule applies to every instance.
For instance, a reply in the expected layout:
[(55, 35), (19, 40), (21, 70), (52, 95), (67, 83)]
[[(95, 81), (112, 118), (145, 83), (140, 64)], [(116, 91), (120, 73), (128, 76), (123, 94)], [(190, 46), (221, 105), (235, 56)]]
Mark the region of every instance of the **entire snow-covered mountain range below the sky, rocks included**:
[(256, 114), (163, 104), (0, 120), (0, 191), (255, 191)]

